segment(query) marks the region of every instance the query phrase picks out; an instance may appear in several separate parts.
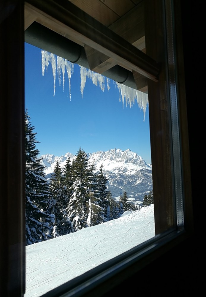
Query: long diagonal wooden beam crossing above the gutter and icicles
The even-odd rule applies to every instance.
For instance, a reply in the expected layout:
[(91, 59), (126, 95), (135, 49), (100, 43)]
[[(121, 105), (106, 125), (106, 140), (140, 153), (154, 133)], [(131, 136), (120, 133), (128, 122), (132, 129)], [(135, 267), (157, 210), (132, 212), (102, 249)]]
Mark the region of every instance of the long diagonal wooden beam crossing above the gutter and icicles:
[[(136, 72), (158, 80), (159, 65), (145, 53), (135, 48), (129, 42), (91, 18), (85, 12), (67, 0), (58, 3), (53, 0), (28, 0), (38, 15), (38, 22), (57, 33), (70, 36), (72, 41), (84, 43), (115, 59), (117, 64), (129, 67)], [(32, 5), (31, 5), (32, 4)]]

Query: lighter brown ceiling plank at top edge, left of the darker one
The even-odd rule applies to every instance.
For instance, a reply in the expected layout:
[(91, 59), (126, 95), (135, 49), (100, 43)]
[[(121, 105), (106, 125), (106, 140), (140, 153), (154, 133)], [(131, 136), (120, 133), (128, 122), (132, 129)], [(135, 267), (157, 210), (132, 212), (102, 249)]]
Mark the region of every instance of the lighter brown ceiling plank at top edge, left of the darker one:
[(112, 11), (109, 7), (105, 6), (104, 3), (102, 3), (101, 1), (96, 1), (96, 0), (69, 0), (69, 1), (107, 27), (119, 18), (118, 14)]

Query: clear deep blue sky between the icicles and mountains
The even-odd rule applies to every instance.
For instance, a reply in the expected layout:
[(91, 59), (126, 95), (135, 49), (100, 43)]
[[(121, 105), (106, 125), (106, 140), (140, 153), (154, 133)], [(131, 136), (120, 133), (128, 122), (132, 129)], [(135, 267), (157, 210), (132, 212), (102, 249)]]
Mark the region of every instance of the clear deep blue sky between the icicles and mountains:
[(64, 91), (56, 75), (53, 96), (51, 64), (42, 76), (41, 50), (25, 43), (25, 107), (36, 128), (40, 154), (76, 154), (131, 149), (151, 163), (148, 106), (144, 115), (137, 102), (129, 108), (119, 102), (119, 90), (110, 80), (110, 90), (86, 81), (83, 98), (80, 91), (80, 67), (75, 64), (69, 82), (65, 72)]

